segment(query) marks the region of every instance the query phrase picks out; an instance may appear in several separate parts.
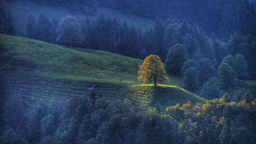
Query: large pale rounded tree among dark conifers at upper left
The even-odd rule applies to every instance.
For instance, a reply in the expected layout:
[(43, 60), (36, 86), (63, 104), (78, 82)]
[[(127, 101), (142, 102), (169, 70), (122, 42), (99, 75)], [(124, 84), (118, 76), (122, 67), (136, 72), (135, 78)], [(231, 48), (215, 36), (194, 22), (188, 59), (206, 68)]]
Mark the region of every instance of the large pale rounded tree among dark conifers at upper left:
[(61, 19), (56, 30), (57, 42), (70, 46), (81, 45), (84, 39), (81, 25), (73, 16), (67, 16)]

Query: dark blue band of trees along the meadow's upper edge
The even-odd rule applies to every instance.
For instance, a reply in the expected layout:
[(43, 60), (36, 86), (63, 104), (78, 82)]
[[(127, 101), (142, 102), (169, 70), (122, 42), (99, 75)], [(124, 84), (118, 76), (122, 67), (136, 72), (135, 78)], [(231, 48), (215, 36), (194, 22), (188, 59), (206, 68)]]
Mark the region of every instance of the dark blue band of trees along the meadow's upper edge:
[[(11, 13), (9, 12), (4, 18), (2, 32), (15, 34)], [(203, 85), (209, 79), (208, 77), (217, 71), (223, 58), (229, 54), (233, 57), (237, 54), (245, 57), (246, 65), (243, 69), (245, 73), (248, 72), (249, 77), (242, 78), (240, 76), (242, 73), (238, 73), (240, 79), (255, 79), (256, 76), (254, 35), (244, 36), (239, 30), (231, 35), (227, 42), (223, 42), (214, 33), (210, 38), (207, 37), (201, 28), (197, 25), (189, 25), (186, 20), (179, 21), (175, 18), (172, 21), (169, 19), (162, 21), (157, 18), (154, 28), (142, 30), (135, 26), (128, 26), (126, 22), (120, 23), (115, 18), (105, 17), (103, 14), (93, 21), (72, 16), (61, 20), (56, 18), (49, 20), (44, 14), (38, 18), (31, 14), (27, 19), (26, 30), (29, 38), (52, 43), (109, 51), (141, 59), (150, 54), (159, 55), (164, 62), (166, 61), (168, 71), (174, 75), (184, 76), (186, 71), (182, 73), (182, 66), (187, 60), (194, 60), (201, 66), (198, 68), (205, 70), (202, 66), (205, 65), (206, 68), (209, 67), (207, 69), (211, 69), (205, 78), (200, 77), (199, 74), (202, 80), (199, 82), (200, 85)], [(177, 44), (183, 45), (183, 50), (176, 49), (176, 52), (173, 52)], [(177, 65), (172, 67), (174, 62)], [(234, 70), (234, 67), (232, 68)], [(204, 72), (202, 74), (205, 75)]]

